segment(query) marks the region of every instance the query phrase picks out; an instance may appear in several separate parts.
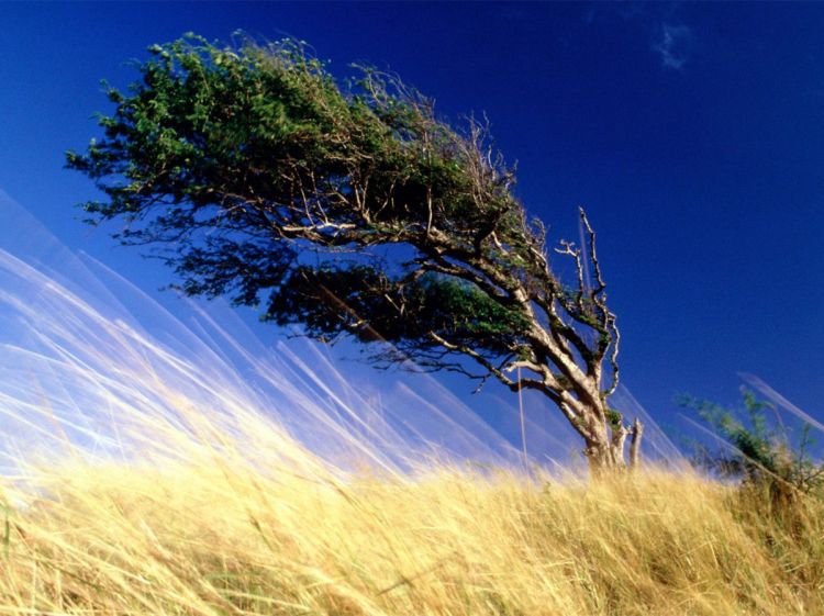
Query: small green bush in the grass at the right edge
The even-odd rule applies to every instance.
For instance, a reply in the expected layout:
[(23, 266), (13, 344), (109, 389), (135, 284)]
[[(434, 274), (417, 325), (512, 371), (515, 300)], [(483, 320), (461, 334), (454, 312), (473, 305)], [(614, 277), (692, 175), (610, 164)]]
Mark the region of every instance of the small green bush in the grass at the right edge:
[(759, 400), (742, 388), (744, 406), (728, 410), (713, 402), (680, 396), (680, 404), (693, 408), (699, 416), (730, 444), (727, 450), (699, 450), (698, 461), (724, 477), (739, 478), (746, 483), (766, 488), (781, 500), (824, 490), (824, 464), (810, 456), (813, 439), (811, 426), (804, 424), (795, 444), (783, 426), (772, 427), (767, 412), (776, 412), (772, 403)]

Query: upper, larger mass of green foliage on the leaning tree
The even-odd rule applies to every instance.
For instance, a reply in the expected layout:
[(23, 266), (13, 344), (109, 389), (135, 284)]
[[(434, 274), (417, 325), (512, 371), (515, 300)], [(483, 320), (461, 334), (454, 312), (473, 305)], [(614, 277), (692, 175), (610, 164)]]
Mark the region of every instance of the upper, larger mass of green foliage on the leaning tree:
[[(510, 176), (476, 186), (465, 139), (389, 78), (366, 71), (343, 90), (288, 41), (232, 51), (191, 35), (149, 53), (130, 93), (109, 90), (116, 109), (99, 116), (105, 138), (67, 154), (109, 198), (86, 210), (94, 221), (125, 216), (124, 239), (186, 240), (207, 227), (319, 215), (338, 225), (318, 229), (326, 239), (349, 223), (358, 239), (380, 243), (403, 223), (470, 245), (483, 223), (504, 231), (519, 213)], [(267, 213), (276, 221), (254, 219)], [(338, 242), (347, 239), (355, 234)]]

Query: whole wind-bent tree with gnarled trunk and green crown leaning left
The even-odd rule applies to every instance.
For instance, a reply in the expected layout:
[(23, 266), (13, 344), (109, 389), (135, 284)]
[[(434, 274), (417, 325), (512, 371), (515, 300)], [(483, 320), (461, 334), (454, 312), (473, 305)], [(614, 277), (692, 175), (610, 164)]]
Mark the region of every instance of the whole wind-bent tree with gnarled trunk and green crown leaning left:
[(89, 222), (120, 219), (114, 237), (158, 248), (188, 294), (348, 335), (378, 366), (537, 390), (593, 471), (623, 468), (630, 435), (637, 460), (643, 426), (608, 404), (619, 329), (595, 234), (581, 210), (586, 246), (555, 250), (577, 271), (564, 284), (486, 125), (453, 128), (375, 70), (339, 87), (296, 42), (149, 53), (126, 93), (108, 89), (104, 138), (67, 154), (107, 197), (82, 204)]

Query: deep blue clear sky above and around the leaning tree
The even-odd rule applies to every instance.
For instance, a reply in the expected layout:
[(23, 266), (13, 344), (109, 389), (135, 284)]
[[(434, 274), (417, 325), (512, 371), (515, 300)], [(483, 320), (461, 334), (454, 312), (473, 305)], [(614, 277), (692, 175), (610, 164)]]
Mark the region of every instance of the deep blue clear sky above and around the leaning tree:
[(739, 371), (824, 415), (824, 4), (0, 3), (0, 189), (69, 247), (167, 282), (78, 222), (94, 191), (63, 153), (98, 134), (99, 80), (126, 85), (125, 60), (238, 29), (305, 40), (342, 77), (390, 68), (446, 117), (486, 113), (553, 238), (587, 208), (623, 378), (664, 423), (679, 391), (735, 401)]

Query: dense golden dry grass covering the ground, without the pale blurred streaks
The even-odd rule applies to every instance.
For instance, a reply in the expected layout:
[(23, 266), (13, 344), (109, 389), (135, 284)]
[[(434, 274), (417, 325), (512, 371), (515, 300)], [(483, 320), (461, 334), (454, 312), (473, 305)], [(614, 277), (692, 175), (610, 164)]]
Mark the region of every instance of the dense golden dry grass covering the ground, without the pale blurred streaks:
[(279, 446), (266, 472), (191, 443), (41, 469), (48, 497), (0, 519), (0, 613), (824, 614), (820, 502), (654, 470), (346, 474)]

